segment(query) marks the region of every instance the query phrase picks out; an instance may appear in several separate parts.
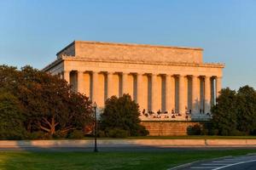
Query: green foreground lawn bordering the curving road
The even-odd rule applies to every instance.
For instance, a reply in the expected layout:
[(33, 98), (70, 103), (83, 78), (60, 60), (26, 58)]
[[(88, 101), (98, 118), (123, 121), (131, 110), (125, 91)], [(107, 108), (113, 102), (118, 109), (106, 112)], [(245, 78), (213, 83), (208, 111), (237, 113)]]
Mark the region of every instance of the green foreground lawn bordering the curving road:
[(175, 167), (190, 161), (238, 156), (256, 150), (195, 150), (170, 152), (27, 152), (1, 151), (0, 169), (150, 169)]

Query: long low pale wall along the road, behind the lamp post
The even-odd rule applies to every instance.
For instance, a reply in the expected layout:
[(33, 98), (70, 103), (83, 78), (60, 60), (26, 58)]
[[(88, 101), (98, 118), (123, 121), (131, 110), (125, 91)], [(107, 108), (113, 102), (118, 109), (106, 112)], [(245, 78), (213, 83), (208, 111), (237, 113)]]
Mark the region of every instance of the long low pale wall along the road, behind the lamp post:
[[(256, 147), (256, 139), (98, 139), (100, 147)], [(93, 147), (94, 140), (0, 140), (0, 148)]]

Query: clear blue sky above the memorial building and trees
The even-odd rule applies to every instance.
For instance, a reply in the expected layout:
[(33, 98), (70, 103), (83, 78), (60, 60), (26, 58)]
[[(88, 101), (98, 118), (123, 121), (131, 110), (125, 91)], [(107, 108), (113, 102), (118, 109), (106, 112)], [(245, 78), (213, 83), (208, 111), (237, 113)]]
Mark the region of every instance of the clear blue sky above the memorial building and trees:
[(201, 47), (224, 87), (256, 88), (254, 0), (0, 1), (0, 65), (41, 69), (73, 40)]

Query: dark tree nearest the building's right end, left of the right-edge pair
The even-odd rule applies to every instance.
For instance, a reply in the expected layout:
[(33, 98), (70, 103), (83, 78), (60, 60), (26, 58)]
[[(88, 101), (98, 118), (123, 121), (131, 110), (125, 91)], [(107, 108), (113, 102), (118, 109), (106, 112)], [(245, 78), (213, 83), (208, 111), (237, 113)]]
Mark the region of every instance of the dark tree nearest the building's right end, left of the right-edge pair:
[(221, 90), (217, 105), (212, 107), (212, 128), (220, 135), (235, 135), (237, 127), (236, 91), (230, 88)]

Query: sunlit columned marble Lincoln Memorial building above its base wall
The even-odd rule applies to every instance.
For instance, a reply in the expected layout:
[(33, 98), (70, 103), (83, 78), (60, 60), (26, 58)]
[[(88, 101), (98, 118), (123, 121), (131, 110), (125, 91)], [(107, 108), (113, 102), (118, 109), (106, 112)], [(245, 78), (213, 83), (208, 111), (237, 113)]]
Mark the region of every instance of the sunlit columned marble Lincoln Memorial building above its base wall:
[(204, 63), (202, 48), (74, 41), (43, 71), (104, 108), (130, 94), (141, 119), (205, 120), (221, 89), (224, 65)]

